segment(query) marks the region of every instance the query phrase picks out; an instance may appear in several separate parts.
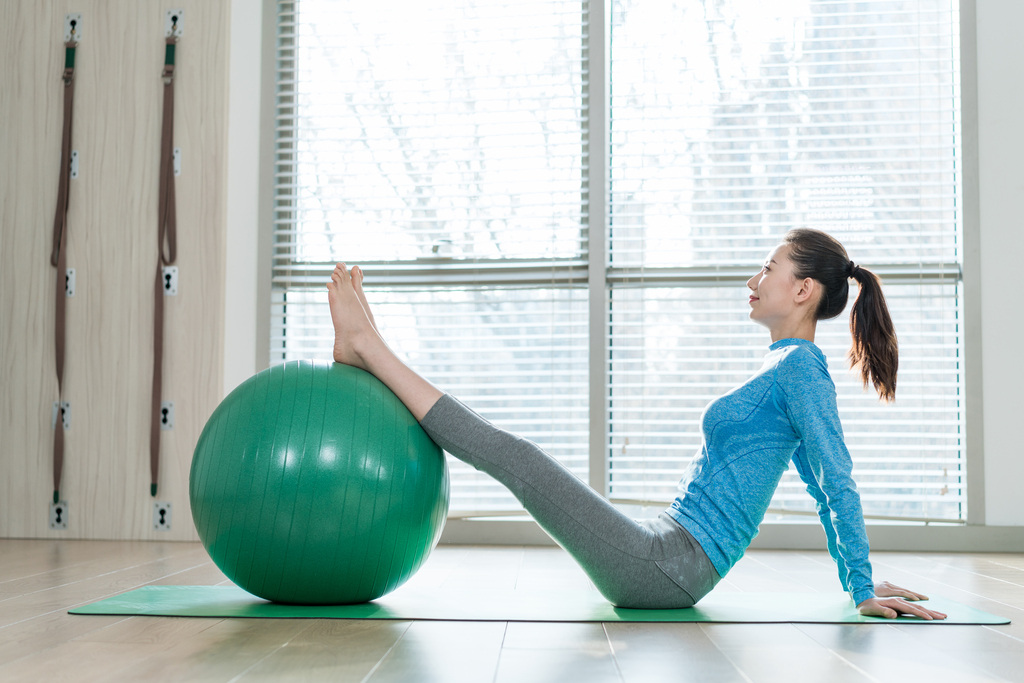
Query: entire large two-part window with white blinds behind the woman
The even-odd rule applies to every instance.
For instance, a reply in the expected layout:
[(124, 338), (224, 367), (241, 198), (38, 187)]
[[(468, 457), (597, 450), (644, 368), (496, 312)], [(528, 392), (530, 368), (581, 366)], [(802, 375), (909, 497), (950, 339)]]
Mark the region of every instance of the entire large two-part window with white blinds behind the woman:
[[(958, 32), (950, 0), (281, 2), (271, 361), (330, 356), (324, 283), (360, 263), (411, 365), (668, 502), (764, 356), (742, 283), (818, 227), (900, 336), (885, 407), (819, 327), (865, 513), (961, 521)], [(454, 511), (518, 509), (452, 469)], [(772, 508), (811, 503), (791, 470)]]

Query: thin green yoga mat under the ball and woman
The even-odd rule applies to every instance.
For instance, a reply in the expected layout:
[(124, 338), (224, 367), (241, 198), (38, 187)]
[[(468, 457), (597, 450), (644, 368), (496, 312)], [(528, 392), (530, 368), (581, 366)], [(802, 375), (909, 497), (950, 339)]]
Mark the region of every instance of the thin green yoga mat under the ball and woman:
[[(932, 597), (923, 602), (948, 618), (906, 624), (1009, 624), (1010, 620)], [(689, 609), (620, 609), (596, 591), (490, 589), (401, 591), (358, 605), (285, 605), (233, 586), (146, 586), (70, 610), (72, 614), (389, 618), (456, 622), (739, 622), (754, 624), (892, 624), (861, 616), (846, 593), (712, 593)]]

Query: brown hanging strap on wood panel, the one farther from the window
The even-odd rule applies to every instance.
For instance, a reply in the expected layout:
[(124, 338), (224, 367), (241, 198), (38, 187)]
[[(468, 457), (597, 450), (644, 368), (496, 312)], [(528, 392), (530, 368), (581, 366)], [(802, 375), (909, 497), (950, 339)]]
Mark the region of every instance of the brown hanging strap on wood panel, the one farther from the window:
[(53, 218), (53, 251), (50, 265), (57, 268), (56, 315), (53, 326), (57, 367), (57, 424), (53, 429), (53, 503), (60, 500), (60, 473), (63, 471), (63, 419), (59, 407), (63, 402), (65, 308), (68, 303), (68, 185), (71, 183), (71, 119), (75, 101), (75, 48), (78, 43), (65, 43), (65, 112), (60, 135), (60, 180), (57, 183), (57, 211)]

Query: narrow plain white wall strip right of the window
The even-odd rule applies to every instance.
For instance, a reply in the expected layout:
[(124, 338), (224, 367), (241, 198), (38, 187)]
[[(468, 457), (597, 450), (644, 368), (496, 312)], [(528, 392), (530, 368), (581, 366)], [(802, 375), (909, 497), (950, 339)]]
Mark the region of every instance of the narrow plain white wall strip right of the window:
[(1024, 525), (1024, 3), (978, 0), (977, 26), (985, 518)]

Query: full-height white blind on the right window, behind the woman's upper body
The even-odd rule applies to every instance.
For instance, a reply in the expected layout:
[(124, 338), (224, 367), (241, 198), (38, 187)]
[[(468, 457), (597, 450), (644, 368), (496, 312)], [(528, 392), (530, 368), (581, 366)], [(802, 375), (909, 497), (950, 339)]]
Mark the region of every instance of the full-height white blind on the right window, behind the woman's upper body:
[[(865, 514), (962, 519), (958, 32), (948, 0), (612, 3), (612, 499), (674, 498), (703, 407), (767, 351), (743, 282), (815, 227), (882, 274), (900, 341), (886, 407), (849, 307), (818, 328)], [(813, 510), (792, 465), (772, 509)]]

